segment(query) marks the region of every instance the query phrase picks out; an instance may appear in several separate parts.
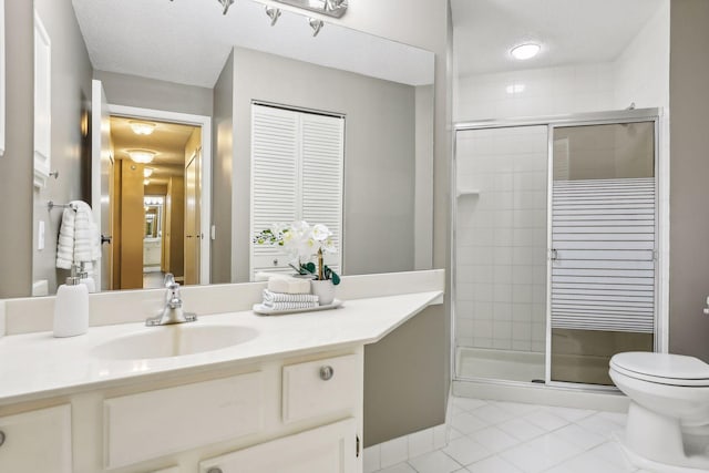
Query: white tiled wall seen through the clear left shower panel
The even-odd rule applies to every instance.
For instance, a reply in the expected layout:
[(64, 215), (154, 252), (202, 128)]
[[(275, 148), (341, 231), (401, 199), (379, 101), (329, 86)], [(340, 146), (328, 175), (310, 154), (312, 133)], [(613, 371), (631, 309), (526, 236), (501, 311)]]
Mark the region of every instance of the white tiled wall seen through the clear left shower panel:
[(547, 128), (459, 132), (455, 337), (544, 351)]

